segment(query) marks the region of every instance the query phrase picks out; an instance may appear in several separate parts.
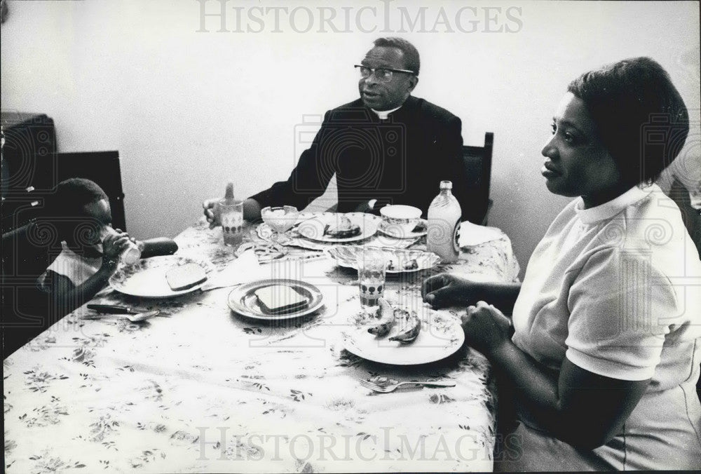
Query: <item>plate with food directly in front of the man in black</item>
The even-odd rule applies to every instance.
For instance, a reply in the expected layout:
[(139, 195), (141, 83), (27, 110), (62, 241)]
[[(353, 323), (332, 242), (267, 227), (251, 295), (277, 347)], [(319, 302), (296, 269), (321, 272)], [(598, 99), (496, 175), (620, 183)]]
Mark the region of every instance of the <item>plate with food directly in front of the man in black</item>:
[(374, 236), (380, 222), (380, 217), (365, 212), (325, 212), (301, 222), (297, 233), (317, 242), (355, 242)]

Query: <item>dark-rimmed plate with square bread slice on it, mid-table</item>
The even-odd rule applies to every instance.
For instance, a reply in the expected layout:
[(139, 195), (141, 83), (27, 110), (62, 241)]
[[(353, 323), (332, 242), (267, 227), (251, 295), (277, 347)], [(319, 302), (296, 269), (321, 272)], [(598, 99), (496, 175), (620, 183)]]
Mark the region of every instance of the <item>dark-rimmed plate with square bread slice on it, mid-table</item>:
[(300, 280), (273, 278), (240, 285), (229, 293), (234, 313), (260, 320), (283, 320), (318, 310), (323, 297), (317, 287)]

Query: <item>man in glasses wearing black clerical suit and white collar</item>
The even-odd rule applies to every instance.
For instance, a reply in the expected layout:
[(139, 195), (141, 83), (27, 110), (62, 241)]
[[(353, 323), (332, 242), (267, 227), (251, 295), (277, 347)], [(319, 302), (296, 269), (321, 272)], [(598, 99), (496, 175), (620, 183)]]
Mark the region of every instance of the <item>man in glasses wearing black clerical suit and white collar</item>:
[[(440, 182), (449, 180), (463, 219), (481, 219), (471, 214), (474, 201), (465, 191), (460, 118), (411, 96), (420, 65), (409, 41), (376, 39), (355, 65), (360, 99), (327, 111), (290, 177), (247, 198), (244, 218), (259, 219), (261, 208), (269, 205), (304, 209), (336, 175), (338, 212), (377, 212), (382, 205), (405, 204), (426, 217)], [(205, 215), (218, 223), (214, 203), (205, 201)]]

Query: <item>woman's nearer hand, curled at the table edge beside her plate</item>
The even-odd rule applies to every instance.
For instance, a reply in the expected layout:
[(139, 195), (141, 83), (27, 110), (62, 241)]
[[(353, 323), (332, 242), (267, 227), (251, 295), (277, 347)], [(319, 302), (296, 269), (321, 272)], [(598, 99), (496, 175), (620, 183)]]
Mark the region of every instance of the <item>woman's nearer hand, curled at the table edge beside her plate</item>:
[(487, 357), (501, 344), (510, 341), (509, 318), (491, 304), (478, 302), (477, 306), (468, 306), (461, 323), (468, 345)]

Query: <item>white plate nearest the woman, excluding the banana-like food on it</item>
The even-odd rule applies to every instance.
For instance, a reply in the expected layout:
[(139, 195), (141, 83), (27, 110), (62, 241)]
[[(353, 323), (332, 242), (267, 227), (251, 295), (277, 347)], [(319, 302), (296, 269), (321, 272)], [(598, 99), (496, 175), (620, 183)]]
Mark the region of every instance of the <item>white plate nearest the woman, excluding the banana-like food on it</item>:
[(364, 359), (391, 365), (428, 364), (447, 358), (461, 348), (465, 333), (450, 313), (434, 311), (428, 306), (419, 306), (415, 311), (421, 318), (421, 332), (410, 344), (388, 340), (399, 329), (396, 326), (385, 337), (370, 334), (367, 328), (373, 325), (373, 320), (357, 315), (351, 318), (349, 327), (341, 331), (343, 346)]

